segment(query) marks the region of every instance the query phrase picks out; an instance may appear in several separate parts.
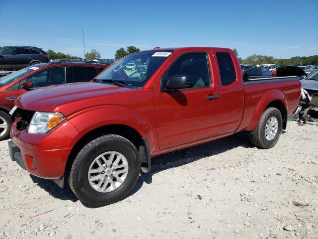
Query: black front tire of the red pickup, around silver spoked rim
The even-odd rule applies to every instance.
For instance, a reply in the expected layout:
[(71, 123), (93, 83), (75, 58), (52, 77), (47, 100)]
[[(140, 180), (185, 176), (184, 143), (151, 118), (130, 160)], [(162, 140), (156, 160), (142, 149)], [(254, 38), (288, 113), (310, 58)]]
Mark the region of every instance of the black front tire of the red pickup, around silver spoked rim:
[[(101, 154), (106, 152), (116, 152), (118, 154), (121, 154), (123, 156), (121, 156), (121, 158), (126, 160), (125, 165), (128, 164), (128, 172), (125, 174), (126, 176), (125, 179), (123, 179), (122, 184), (117, 188), (115, 187), (116, 189), (113, 189), (114, 187), (112, 187), (112, 184), (107, 183), (108, 186), (106, 186), (106, 189), (113, 190), (109, 192), (104, 192), (103, 190), (99, 189), (103, 191), (101, 192), (98, 191), (96, 188), (93, 188), (93, 186), (91, 185), (95, 182), (89, 182), (88, 177), (90, 177), (92, 174), (89, 174), (88, 172), (89, 170), (94, 170), (92, 168), (92, 165), (94, 165), (94, 162), (96, 162), (96, 159), (100, 157)], [(116, 156), (116, 158), (117, 157), (118, 156)], [(106, 158), (106, 156), (104, 158)], [(101, 158), (99, 159), (101, 162), (103, 162)], [(115, 162), (116, 160), (114, 159), (114, 165)], [(108, 176), (106, 175), (106, 170), (112, 167), (111, 164), (109, 166), (105, 163), (100, 166), (104, 168), (107, 167), (105, 169), (105, 172), (98, 172), (96, 174), (96, 176), (98, 177), (101, 176), (102, 179), (100, 179), (100, 181), (105, 180), (104, 182), (106, 182), (106, 177), (115, 179), (115, 177), (109, 176), (109, 174), (115, 175), (114, 172), (112, 172), (113, 174), (108, 173)], [(129, 140), (115, 134), (103, 135), (90, 141), (79, 151), (71, 167), (71, 171), (69, 174), (69, 184), (72, 191), (75, 193), (75, 195), (79, 198), (80, 201), (92, 207), (102, 207), (126, 198), (137, 183), (140, 174), (140, 169), (141, 159), (139, 157), (139, 153), (137, 151), (137, 148)], [(99, 168), (95, 170), (99, 170)], [(102, 170), (104, 169), (102, 168)], [(112, 169), (112, 171), (114, 170), (117, 169)], [(101, 175), (101, 173), (105, 175), (105, 179), (103, 178), (103, 175)], [(120, 174), (118, 174), (117, 176), (119, 175)], [(99, 183), (99, 181), (97, 182)], [(104, 185), (104, 182), (101, 183), (101, 185)], [(116, 182), (116, 184), (119, 183), (115, 180), (113, 180), (113, 182)], [(98, 183), (96, 183), (96, 187)]]

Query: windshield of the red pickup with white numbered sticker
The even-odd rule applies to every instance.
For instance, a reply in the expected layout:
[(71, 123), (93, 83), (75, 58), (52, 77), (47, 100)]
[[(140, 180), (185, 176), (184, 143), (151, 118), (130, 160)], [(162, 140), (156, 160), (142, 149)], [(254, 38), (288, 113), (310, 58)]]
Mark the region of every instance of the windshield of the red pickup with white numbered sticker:
[[(104, 70), (96, 81), (105, 84), (119, 81), (128, 87), (143, 87), (172, 52), (153, 50), (133, 53)], [(143, 67), (135, 67), (140, 64), (143, 64)]]

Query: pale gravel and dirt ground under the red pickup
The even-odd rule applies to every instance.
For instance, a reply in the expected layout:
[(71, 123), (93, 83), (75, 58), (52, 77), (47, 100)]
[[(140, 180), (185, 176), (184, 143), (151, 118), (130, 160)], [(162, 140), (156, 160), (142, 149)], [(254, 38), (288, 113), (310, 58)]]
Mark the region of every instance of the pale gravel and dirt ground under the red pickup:
[(292, 122), (272, 149), (239, 133), (159, 156), (128, 198), (103, 208), (30, 176), (2, 141), (0, 239), (317, 239), (317, 136), (317, 124)]

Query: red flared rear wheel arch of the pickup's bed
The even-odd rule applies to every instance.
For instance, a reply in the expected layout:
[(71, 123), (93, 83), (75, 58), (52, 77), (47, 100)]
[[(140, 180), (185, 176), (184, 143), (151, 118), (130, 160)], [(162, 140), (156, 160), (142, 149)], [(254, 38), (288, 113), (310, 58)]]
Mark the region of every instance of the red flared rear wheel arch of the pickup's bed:
[(265, 95), (262, 96), (262, 98), (258, 101), (258, 104), (255, 108), (254, 114), (250, 120), (250, 123), (248, 127), (246, 128), (246, 131), (252, 131), (259, 123), (259, 120), (263, 114), (263, 112), (266, 110), (267, 106), (273, 102), (279, 100), (284, 104), (285, 109), (287, 109), (287, 100), (283, 92), (279, 90), (270, 90)]

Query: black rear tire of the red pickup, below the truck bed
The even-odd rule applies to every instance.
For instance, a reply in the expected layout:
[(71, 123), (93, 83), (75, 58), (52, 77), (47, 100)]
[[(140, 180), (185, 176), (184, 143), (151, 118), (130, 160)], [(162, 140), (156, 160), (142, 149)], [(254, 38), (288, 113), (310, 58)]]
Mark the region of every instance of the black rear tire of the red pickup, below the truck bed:
[[(266, 137), (266, 134), (265, 134), (266, 124), (267, 124), (267, 122), (269, 122), (270, 119), (273, 119), (273, 118), (277, 119), (276, 134), (275, 134), (275, 136), (274, 136), (274, 134), (272, 134), (272, 136), (274, 136), (273, 138), (270, 137), (270, 134), (267, 134), (267, 137)], [(259, 124), (258, 124), (257, 128), (255, 130), (253, 130), (253, 132), (250, 134), (251, 142), (259, 148), (271, 148), (271, 147), (273, 147), (277, 143), (277, 141), (281, 135), (282, 125), (283, 125), (283, 118), (282, 118), (282, 114), (280, 113), (280, 111), (276, 108), (273, 108), (273, 107), (266, 109), (264, 111), (262, 117), (259, 120)], [(270, 126), (268, 128), (271, 128), (270, 132), (274, 131), (272, 129), (274, 127)]]

